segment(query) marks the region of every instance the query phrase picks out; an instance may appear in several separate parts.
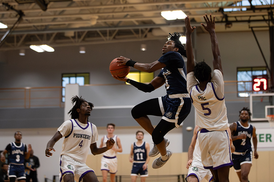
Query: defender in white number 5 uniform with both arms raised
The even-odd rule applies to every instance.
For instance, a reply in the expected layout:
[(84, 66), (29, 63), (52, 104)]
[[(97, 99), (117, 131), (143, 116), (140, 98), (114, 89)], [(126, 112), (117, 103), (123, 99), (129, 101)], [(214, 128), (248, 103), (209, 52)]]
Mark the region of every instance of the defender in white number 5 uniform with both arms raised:
[[(210, 169), (216, 181), (228, 182), (229, 168), (232, 165), (230, 143), (231, 133), (224, 102), (223, 69), (219, 45), (215, 33), (215, 16), (203, 16), (209, 32), (213, 53), (213, 76), (211, 68), (205, 62), (194, 63), (191, 42), (190, 18), (185, 18), (187, 52), (187, 89), (196, 111), (196, 125), (199, 126), (198, 140), (201, 149), (202, 164)], [(229, 150), (228, 150), (229, 149)]]

